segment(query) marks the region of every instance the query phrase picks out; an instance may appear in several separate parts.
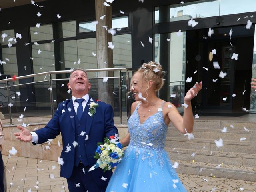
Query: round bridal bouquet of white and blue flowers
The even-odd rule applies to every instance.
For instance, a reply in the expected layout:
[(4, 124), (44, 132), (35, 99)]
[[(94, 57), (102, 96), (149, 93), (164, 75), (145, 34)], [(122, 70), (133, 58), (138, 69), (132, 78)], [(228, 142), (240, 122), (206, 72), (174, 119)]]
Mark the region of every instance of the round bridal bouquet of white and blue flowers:
[(104, 172), (117, 166), (122, 160), (124, 151), (122, 144), (118, 142), (117, 134), (104, 139), (104, 144), (98, 143), (94, 158), (98, 159), (96, 164), (92, 166), (89, 171), (96, 168), (101, 168)]

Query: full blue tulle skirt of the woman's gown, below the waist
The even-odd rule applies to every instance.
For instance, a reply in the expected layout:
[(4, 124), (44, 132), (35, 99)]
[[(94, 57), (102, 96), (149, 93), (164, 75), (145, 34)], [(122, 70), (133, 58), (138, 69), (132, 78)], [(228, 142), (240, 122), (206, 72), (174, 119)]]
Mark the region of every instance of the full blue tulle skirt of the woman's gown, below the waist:
[(128, 146), (106, 192), (186, 192), (164, 150)]

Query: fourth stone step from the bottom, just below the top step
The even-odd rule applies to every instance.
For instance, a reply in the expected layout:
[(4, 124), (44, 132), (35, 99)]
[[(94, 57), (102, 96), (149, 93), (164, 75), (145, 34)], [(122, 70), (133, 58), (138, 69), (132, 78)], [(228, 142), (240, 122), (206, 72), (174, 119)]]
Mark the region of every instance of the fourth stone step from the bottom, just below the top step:
[[(222, 128), (223, 129), (223, 128)], [(216, 139), (239, 141), (240, 138), (245, 137), (246, 141), (256, 141), (256, 130), (249, 130), (249, 132), (238, 129), (227, 128), (226, 133), (222, 133), (220, 129), (204, 129), (194, 128), (193, 134), (195, 138)], [(168, 128), (167, 136), (184, 138), (184, 134), (176, 130), (176, 128)]]

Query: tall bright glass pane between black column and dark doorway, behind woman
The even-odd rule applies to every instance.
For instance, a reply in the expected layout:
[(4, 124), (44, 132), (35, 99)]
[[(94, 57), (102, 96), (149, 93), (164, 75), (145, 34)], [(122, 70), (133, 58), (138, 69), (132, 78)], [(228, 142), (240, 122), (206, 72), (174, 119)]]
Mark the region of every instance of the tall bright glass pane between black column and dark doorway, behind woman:
[[(167, 41), (166, 39), (170, 39)], [(168, 34), (156, 34), (154, 36), (154, 60), (166, 64), (165, 70), (168, 70), (168, 77), (165, 77), (169, 82), (167, 87), (162, 90), (168, 90), (168, 101), (172, 102), (179, 111), (183, 108), (184, 103), (184, 88), (185, 88), (185, 65), (186, 65), (186, 32), (181, 32), (177, 36), (176, 32)], [(168, 52), (166, 52), (168, 50)], [(176, 94), (176, 97), (171, 95)]]

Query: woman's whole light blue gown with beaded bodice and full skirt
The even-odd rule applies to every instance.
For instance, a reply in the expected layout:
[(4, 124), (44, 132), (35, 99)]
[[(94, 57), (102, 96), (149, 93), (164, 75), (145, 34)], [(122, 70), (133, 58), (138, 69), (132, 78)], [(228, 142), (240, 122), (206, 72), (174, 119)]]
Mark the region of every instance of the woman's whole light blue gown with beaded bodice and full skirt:
[(162, 108), (142, 124), (138, 108), (128, 120), (130, 144), (106, 192), (186, 192), (164, 150), (168, 126)]

